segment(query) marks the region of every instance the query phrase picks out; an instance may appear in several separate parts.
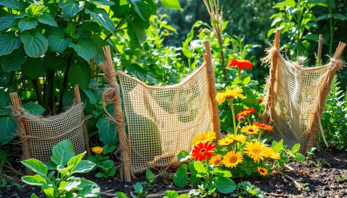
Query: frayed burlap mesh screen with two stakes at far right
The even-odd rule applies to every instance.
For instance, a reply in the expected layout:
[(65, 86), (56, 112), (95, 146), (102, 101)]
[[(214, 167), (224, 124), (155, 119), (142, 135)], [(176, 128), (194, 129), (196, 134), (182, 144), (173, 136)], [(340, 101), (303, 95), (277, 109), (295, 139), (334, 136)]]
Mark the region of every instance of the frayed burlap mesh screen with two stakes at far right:
[(274, 46), (267, 50), (267, 57), (262, 59), (263, 63), (270, 64), (262, 119), (264, 123), (274, 126), (272, 135), (275, 140), (283, 139), (290, 148), (300, 143), (301, 152), (306, 153), (317, 145), (320, 130), (324, 137), (321, 114), (334, 75), (344, 65), (340, 57), (346, 44), (339, 44), (334, 57), (326, 65), (305, 67), (281, 55), (279, 35), (277, 31)]

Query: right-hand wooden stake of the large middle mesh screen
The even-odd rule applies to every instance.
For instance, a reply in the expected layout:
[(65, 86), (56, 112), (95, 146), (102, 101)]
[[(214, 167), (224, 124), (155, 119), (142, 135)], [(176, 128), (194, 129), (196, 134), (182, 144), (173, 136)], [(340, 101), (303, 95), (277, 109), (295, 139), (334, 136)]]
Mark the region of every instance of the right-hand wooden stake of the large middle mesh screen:
[(219, 114), (218, 107), (216, 101), (216, 88), (215, 88), (215, 80), (213, 74), (213, 66), (212, 66), (212, 58), (211, 58), (211, 48), (209, 41), (203, 42), (205, 45), (206, 54), (203, 55), (203, 59), (207, 64), (207, 79), (208, 79), (208, 92), (209, 98), (212, 106), (212, 122), (213, 122), (213, 131), (216, 132), (217, 140), (221, 139), (220, 133), (220, 125), (219, 125)]

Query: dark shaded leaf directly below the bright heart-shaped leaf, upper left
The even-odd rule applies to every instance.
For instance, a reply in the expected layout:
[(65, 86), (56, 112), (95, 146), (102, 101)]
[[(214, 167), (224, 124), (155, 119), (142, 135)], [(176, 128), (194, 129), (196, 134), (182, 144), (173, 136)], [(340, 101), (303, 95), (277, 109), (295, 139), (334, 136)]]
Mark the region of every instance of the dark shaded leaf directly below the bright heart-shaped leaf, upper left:
[(28, 57), (24, 64), (21, 65), (22, 74), (33, 79), (42, 77), (45, 73), (45, 68), (41, 58)]

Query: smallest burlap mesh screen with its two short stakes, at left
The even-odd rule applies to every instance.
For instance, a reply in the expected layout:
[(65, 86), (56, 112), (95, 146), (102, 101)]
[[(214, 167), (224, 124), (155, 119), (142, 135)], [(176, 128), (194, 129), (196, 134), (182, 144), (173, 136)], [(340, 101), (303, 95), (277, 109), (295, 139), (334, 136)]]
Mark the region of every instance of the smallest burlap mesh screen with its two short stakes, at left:
[(81, 103), (77, 86), (74, 91), (73, 105), (65, 112), (49, 117), (30, 114), (20, 107), (17, 93), (10, 94), (13, 104), (12, 115), (16, 118), (17, 134), (23, 147), (23, 159), (50, 161), (53, 146), (64, 139), (71, 141), (76, 155), (84, 151), (87, 151), (87, 156), (90, 155), (83, 115), (84, 105)]

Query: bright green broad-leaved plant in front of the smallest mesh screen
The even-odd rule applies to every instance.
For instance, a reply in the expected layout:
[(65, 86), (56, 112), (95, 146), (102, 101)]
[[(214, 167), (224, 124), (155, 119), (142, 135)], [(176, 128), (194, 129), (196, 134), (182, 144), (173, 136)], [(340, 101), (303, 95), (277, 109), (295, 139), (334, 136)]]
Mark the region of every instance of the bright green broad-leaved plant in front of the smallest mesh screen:
[(72, 143), (63, 140), (53, 146), (52, 153), (48, 166), (36, 159), (21, 161), (27, 169), (36, 173), (34, 176), (23, 176), (21, 180), (27, 185), (41, 187), (48, 198), (99, 196), (100, 187), (97, 184), (73, 176), (88, 173), (95, 167), (95, 163), (82, 160), (86, 151), (75, 156)]

